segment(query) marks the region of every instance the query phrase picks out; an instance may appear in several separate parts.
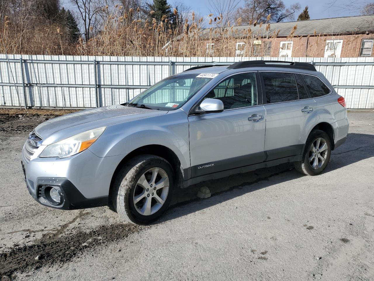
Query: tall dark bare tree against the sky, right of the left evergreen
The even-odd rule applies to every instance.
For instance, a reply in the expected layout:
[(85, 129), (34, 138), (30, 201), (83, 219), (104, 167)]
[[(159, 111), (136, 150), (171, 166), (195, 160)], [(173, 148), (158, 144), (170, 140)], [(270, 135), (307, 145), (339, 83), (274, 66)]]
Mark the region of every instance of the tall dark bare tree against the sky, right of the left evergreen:
[(70, 0), (76, 9), (76, 16), (80, 19), (85, 39), (91, 38), (93, 28), (98, 28), (98, 13), (102, 6), (96, 0)]

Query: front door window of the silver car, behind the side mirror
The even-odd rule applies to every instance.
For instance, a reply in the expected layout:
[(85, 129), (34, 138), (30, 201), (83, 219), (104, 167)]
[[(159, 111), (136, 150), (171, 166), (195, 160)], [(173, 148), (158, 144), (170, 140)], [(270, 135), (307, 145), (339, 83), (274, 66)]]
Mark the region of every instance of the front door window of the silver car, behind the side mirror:
[(254, 72), (230, 76), (211, 90), (205, 99), (219, 99), (224, 109), (257, 105), (257, 83)]

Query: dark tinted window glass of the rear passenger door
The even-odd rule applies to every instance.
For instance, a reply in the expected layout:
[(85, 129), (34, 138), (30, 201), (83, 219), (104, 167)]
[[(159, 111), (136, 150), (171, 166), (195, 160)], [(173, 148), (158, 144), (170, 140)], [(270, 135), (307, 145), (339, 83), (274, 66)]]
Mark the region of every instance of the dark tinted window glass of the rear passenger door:
[(267, 103), (298, 100), (295, 77), (292, 73), (263, 72)]

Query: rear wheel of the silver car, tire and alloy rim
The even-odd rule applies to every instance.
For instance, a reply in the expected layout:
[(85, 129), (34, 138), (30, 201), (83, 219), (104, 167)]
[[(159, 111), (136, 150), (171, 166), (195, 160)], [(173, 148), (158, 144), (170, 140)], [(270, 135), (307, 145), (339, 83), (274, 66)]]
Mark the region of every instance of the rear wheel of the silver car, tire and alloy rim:
[[(318, 145), (319, 140), (319, 145)], [(312, 150), (312, 145), (314, 150)], [(318, 145), (318, 148), (316, 148)], [(326, 146), (327, 149), (324, 149)], [(321, 150), (324, 149), (324, 150)], [(313, 155), (313, 153), (315, 153)], [(331, 141), (327, 133), (321, 130), (313, 130), (306, 143), (303, 158), (299, 162), (294, 162), (295, 169), (309, 176), (321, 173), (327, 166), (331, 155)], [(309, 161), (310, 160), (310, 161)]]

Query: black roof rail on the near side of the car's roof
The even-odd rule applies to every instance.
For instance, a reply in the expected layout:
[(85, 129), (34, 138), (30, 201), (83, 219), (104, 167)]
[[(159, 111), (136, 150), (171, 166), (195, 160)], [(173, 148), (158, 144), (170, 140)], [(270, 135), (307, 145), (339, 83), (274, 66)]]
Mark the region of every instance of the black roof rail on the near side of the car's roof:
[(298, 61), (281, 61), (281, 60), (248, 60), (238, 61), (228, 66), (228, 69), (238, 69), (244, 67), (286, 67), (286, 68), (297, 68), (304, 70), (317, 71), (313, 64), (310, 63), (299, 63)]

